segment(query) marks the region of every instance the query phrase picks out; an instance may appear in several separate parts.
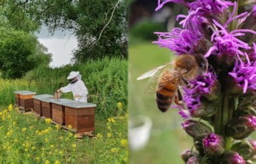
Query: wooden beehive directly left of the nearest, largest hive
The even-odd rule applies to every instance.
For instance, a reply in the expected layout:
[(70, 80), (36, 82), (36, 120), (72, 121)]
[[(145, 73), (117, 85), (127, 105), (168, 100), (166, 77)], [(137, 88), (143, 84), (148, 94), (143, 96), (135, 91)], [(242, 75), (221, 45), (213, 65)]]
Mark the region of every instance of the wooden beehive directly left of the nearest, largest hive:
[(74, 102), (74, 100), (59, 98), (52, 99), (52, 109), (53, 109), (53, 121), (61, 125), (65, 124), (65, 108), (64, 103)]

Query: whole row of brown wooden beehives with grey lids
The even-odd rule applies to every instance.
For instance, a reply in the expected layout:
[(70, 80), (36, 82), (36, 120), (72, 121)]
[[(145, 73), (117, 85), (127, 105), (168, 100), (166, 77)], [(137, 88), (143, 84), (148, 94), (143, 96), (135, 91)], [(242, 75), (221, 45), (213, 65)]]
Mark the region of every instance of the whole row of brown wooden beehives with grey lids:
[(15, 104), (19, 108), (32, 109), (43, 118), (53, 119), (53, 123), (72, 126), (77, 133), (95, 130), (96, 104), (75, 102), (74, 100), (54, 99), (50, 94), (35, 95), (31, 91), (15, 91)]

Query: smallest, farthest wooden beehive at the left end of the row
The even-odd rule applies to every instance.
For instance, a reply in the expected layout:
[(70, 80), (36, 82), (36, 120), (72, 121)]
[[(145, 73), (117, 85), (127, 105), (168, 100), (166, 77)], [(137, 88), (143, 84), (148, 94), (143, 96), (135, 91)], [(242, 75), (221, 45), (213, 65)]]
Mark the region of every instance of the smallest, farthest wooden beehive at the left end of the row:
[(31, 110), (33, 108), (32, 96), (35, 96), (36, 92), (32, 91), (15, 91), (15, 105), (22, 110)]

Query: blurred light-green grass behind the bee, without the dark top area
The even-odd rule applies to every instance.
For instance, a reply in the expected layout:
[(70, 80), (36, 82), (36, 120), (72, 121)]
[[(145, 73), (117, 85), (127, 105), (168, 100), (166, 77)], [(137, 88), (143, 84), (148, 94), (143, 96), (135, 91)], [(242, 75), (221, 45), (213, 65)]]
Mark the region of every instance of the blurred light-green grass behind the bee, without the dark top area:
[[(175, 56), (168, 49), (150, 42), (133, 36), (129, 39), (129, 117), (146, 115), (153, 121), (148, 144), (136, 152), (130, 151), (129, 163), (184, 163), (180, 154), (183, 150), (192, 148), (193, 142), (182, 130), (182, 119), (178, 110), (160, 112), (156, 107), (154, 94), (147, 92), (152, 86), (148, 85), (147, 80), (136, 80), (142, 73), (170, 62)], [(255, 136), (254, 133), (253, 138)]]

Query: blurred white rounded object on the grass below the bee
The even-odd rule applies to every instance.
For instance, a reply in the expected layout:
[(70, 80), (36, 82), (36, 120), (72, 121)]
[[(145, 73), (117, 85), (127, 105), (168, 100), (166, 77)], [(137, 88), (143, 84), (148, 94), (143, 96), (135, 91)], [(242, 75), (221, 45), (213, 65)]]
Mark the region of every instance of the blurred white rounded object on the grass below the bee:
[(139, 150), (146, 146), (152, 129), (152, 120), (144, 115), (138, 115), (129, 119), (128, 126), (129, 148)]

